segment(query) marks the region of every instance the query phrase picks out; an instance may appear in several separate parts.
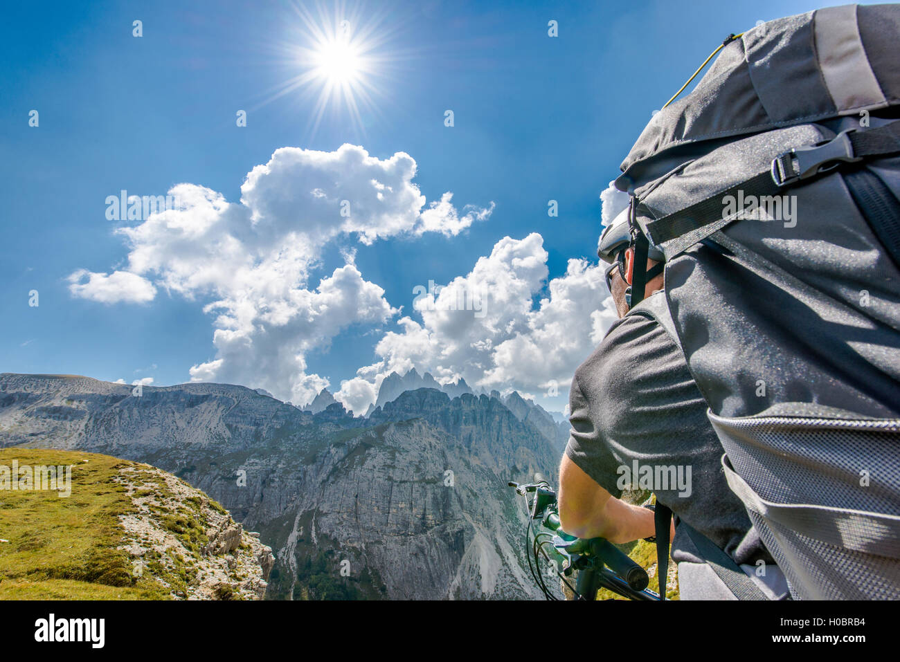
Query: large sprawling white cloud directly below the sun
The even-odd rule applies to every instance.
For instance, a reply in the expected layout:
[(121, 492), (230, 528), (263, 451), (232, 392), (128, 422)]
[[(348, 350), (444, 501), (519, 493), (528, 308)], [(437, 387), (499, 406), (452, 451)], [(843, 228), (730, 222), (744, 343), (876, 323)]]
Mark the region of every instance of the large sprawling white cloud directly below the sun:
[(177, 184), (168, 192), (174, 209), (117, 230), (129, 247), (127, 269), (78, 270), (70, 291), (106, 303), (146, 302), (162, 288), (201, 301), (215, 316), (215, 355), (191, 368), (192, 380), (309, 402), (329, 381), (307, 373), (305, 353), (327, 348), (346, 327), (383, 324), (397, 312), (356, 269), (352, 249), (343, 251), (345, 266), (309, 282), (322, 246), (339, 236), (364, 245), (401, 234), (455, 236), (491, 214), (492, 203), (456, 210), (449, 192), (428, 204), (412, 181), (416, 169), (403, 152), (380, 159), (354, 145), (280, 148), (247, 174), (239, 202)]

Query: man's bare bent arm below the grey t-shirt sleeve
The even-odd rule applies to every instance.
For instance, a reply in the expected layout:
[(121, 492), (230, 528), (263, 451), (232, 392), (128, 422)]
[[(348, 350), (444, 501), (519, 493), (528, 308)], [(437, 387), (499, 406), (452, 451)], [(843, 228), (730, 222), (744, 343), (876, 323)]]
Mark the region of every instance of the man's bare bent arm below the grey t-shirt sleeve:
[(613, 497), (565, 454), (557, 504), (563, 531), (579, 538), (606, 538), (621, 544), (654, 533), (651, 510)]

